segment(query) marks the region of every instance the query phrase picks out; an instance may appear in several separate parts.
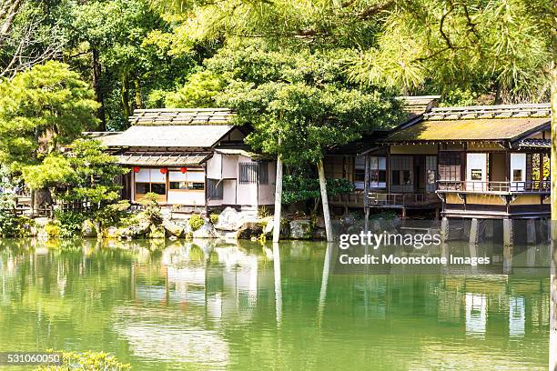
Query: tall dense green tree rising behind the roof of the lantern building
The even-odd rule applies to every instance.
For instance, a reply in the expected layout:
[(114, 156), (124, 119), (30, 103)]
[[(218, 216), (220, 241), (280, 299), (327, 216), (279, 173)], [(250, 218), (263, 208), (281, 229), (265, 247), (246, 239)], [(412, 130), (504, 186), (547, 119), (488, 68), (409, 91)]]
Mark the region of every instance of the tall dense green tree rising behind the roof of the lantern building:
[(183, 85), (197, 65), (189, 46), (167, 37), (172, 23), (147, 0), (74, 2), (68, 13), (66, 58), (90, 75), (101, 129), (126, 128), (134, 108), (152, 104), (146, 98), (157, 89)]

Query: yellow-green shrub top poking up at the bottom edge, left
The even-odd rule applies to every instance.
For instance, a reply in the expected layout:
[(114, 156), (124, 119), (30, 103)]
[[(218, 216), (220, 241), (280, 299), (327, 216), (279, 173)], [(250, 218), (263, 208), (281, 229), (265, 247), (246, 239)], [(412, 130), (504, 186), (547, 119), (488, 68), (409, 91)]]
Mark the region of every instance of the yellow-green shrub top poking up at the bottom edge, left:
[(116, 356), (105, 352), (63, 352), (61, 366), (39, 366), (35, 371), (127, 371), (131, 366), (118, 362)]

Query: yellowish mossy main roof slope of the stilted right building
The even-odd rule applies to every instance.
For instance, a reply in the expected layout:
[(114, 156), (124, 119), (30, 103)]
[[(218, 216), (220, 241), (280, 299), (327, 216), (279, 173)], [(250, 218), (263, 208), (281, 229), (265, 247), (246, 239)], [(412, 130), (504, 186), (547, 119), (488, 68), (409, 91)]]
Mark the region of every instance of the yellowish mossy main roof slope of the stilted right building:
[(549, 123), (545, 117), (425, 120), (390, 134), (384, 142), (511, 140)]

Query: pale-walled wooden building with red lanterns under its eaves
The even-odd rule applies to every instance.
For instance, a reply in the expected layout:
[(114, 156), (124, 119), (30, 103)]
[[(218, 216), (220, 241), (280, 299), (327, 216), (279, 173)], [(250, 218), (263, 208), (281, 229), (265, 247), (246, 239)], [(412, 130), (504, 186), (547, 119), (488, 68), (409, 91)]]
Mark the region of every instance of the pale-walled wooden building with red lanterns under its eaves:
[(123, 196), (148, 192), (165, 206), (274, 204), (275, 162), (244, 145), (248, 131), (226, 108), (136, 110), (122, 133), (98, 135), (130, 168)]

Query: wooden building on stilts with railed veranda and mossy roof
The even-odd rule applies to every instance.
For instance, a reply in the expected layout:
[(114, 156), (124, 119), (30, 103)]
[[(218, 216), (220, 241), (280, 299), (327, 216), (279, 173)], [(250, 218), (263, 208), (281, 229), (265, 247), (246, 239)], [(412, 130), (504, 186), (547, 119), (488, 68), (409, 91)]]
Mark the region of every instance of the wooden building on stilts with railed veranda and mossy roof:
[(360, 154), (372, 208), (458, 218), (550, 215), (549, 105), (438, 107)]

